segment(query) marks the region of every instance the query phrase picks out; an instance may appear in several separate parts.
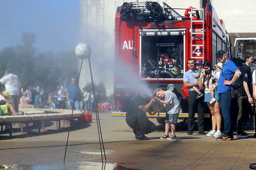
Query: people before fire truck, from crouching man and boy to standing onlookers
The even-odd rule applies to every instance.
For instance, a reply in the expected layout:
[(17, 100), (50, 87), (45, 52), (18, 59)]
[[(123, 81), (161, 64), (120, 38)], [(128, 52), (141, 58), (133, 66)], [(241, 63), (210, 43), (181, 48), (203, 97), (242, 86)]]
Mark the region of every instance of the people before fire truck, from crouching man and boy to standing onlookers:
[[(230, 141), (234, 139), (233, 131), (236, 130), (237, 138), (246, 138), (244, 125), (252, 118), (253, 99), (256, 99), (256, 70), (251, 73), (250, 66), (253, 64), (253, 54), (244, 53), (244, 64), (237, 67), (232, 60), (228, 59), (227, 53), (220, 50), (216, 53), (218, 64), (213, 68), (210, 61), (195, 61), (189, 59), (189, 70), (184, 73), (184, 87), (188, 88), (188, 135), (195, 131), (195, 113), (198, 113), (198, 134), (216, 138), (217, 141)], [(234, 83), (241, 80), (238, 88), (238, 96), (232, 98)], [(165, 134), (160, 139), (176, 139), (175, 125), (180, 112), (180, 103), (172, 90), (155, 89), (152, 99), (139, 93), (129, 103), (126, 122), (133, 129), (136, 139), (148, 140), (145, 134), (156, 130), (154, 125), (146, 117), (145, 112), (154, 115), (159, 108), (154, 110), (154, 104), (164, 105)], [(238, 113), (232, 111), (231, 104), (236, 102)], [(256, 100), (254, 100), (256, 105)], [(205, 107), (211, 111), (211, 131), (204, 132)], [(235, 119), (234, 117), (237, 118)], [(234, 124), (234, 120), (236, 121)], [(172, 135), (169, 136), (169, 132)], [(256, 131), (256, 129), (255, 129)], [(256, 133), (254, 134), (256, 137)]]

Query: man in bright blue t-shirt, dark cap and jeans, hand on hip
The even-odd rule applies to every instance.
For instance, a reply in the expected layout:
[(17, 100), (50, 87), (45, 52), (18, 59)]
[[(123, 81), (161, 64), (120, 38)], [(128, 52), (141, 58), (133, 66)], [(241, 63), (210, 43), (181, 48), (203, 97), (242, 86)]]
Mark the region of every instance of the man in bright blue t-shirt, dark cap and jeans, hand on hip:
[(231, 60), (228, 60), (227, 54), (223, 50), (219, 50), (216, 53), (216, 59), (221, 62), (222, 70), (220, 78), (218, 80), (218, 93), (221, 105), (221, 115), (224, 120), (224, 130), (217, 141), (231, 141), (234, 139), (232, 131), (232, 113), (231, 113), (231, 94), (230, 89), (232, 83), (234, 83), (239, 76), (241, 71), (238, 69), (236, 64)]

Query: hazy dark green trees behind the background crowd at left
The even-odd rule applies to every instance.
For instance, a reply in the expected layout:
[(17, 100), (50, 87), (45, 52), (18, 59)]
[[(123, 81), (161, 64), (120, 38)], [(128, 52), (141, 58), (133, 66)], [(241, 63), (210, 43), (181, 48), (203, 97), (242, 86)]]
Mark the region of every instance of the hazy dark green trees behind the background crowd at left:
[(12, 67), (24, 90), (29, 85), (38, 83), (49, 93), (56, 90), (57, 85), (67, 85), (72, 77), (78, 76), (79, 66), (75, 53), (37, 53), (33, 46), (36, 42), (34, 33), (22, 33), (22, 45), (9, 46), (0, 52), (3, 63), (0, 65), (0, 76), (6, 67)]

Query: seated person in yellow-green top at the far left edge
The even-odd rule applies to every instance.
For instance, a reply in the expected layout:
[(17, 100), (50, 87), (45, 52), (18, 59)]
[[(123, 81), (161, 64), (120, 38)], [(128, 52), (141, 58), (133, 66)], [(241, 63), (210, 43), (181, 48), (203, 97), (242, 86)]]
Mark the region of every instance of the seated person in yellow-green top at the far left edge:
[(12, 115), (17, 116), (17, 113), (12, 105), (12, 102), (10, 101), (10, 93), (8, 91), (4, 91), (0, 94), (0, 101), (8, 104), (1, 104), (0, 109), (2, 116)]

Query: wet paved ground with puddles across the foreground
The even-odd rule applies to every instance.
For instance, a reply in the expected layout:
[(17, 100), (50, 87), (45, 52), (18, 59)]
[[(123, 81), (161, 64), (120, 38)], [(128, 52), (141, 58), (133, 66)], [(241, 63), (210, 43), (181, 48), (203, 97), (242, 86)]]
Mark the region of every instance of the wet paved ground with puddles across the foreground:
[[(157, 124), (156, 119), (150, 120)], [(13, 138), (0, 135), (0, 164), (92, 169), (88, 167), (90, 162), (102, 162), (94, 113), (91, 124), (74, 127), (70, 132), (65, 166), (63, 158), (69, 127), (66, 124), (58, 131), (54, 129), (55, 123), (45, 123), (48, 131), (41, 134), (25, 127), (28, 134), (20, 134), (19, 129), (15, 129)], [(100, 125), (110, 167), (100, 164), (96, 169), (250, 169), (250, 163), (256, 162), (256, 138), (253, 137), (252, 125), (246, 130), (249, 138), (234, 136), (234, 141), (216, 141), (196, 132), (188, 135), (179, 128), (177, 141), (159, 139), (164, 131), (148, 134), (149, 141), (137, 141), (125, 118), (111, 117), (111, 113), (100, 113)]]

